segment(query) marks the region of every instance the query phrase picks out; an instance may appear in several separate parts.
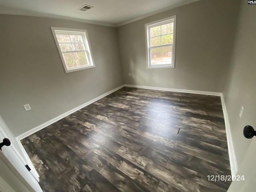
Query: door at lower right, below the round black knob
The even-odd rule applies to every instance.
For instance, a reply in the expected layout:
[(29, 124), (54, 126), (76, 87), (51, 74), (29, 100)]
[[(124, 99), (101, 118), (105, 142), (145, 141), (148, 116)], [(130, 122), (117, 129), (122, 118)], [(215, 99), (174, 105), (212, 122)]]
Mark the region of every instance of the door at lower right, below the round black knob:
[[(255, 127), (254, 127), (255, 128)], [(246, 155), (236, 174), (236, 179), (244, 175), (244, 180), (232, 181), (228, 192), (255, 192), (256, 186), (256, 136), (252, 138), (252, 142), (247, 149)]]

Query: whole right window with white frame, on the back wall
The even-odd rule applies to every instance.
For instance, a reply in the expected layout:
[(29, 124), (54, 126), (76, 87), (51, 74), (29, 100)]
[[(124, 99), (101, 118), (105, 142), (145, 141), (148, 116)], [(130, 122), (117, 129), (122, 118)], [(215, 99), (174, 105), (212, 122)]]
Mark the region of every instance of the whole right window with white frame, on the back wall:
[(145, 24), (147, 68), (174, 68), (176, 16)]

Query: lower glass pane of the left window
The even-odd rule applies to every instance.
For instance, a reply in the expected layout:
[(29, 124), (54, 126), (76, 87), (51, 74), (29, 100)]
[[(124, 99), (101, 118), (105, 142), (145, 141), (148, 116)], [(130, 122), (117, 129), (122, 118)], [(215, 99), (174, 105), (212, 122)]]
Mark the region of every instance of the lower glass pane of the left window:
[(87, 65), (85, 52), (62, 53), (66, 67), (72, 68)]

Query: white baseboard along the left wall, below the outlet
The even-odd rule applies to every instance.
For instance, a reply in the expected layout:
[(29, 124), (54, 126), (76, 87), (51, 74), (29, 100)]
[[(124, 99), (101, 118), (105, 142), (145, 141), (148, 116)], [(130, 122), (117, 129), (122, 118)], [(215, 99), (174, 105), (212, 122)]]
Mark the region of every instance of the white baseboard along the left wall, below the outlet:
[(72, 114), (72, 113), (74, 113), (74, 112), (76, 112), (76, 111), (78, 111), (78, 110), (80, 110), (80, 109), (90, 105), (90, 104), (92, 104), (93, 102), (96, 102), (96, 101), (100, 100), (103, 97), (106, 97), (107, 95), (109, 95), (109, 94), (111, 94), (111, 93), (113, 93), (113, 92), (115, 92), (115, 91), (117, 91), (117, 90), (119, 90), (119, 89), (121, 89), (123, 87), (124, 87), (124, 85), (121, 85), (121, 86), (119, 86), (119, 87), (117, 87), (117, 88), (115, 88), (115, 89), (113, 89), (113, 90), (111, 90), (111, 91), (109, 91), (109, 92), (107, 92), (105, 94), (102, 94), (101, 96), (98, 96), (97, 98), (94, 98), (94, 99), (92, 99), (92, 100), (90, 100), (90, 101), (88, 101), (88, 102), (86, 102), (86, 103), (84, 103), (84, 104), (82, 104), (82, 105), (72, 109), (72, 110), (69, 110), (68, 112), (63, 113), (63, 114), (59, 115), (58, 117), (55, 117), (55, 118), (53, 118), (53, 119), (51, 119), (51, 120), (49, 120), (49, 121), (47, 121), (47, 122), (45, 122), (45, 123), (35, 127), (35, 128), (33, 128), (33, 129), (31, 129), (31, 130), (28, 130), (27, 132), (24, 132), (24, 133), (20, 134), (19, 136), (16, 137), (16, 139), (18, 141), (22, 140), (22, 139), (26, 138), (27, 136), (30, 136), (31, 134), (33, 134), (33, 133), (35, 133), (35, 132), (37, 132), (37, 131), (39, 131), (39, 130), (41, 130), (41, 129), (43, 129), (43, 128), (45, 128), (45, 127), (47, 127), (47, 126), (49, 126), (49, 125), (51, 125), (51, 124), (53, 124), (55, 122), (57, 122), (58, 120), (66, 117), (66, 116), (68, 116), (68, 115), (70, 115), (70, 114)]

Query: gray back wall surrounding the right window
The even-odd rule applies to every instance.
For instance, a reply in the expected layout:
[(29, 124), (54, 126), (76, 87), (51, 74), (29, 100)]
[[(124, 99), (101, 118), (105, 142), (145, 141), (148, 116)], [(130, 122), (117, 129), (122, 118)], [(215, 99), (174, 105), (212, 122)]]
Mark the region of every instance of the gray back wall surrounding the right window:
[[(238, 2), (202, 0), (118, 27), (124, 83), (222, 92), (234, 42)], [(173, 15), (177, 15), (176, 66), (146, 69), (144, 24)]]

